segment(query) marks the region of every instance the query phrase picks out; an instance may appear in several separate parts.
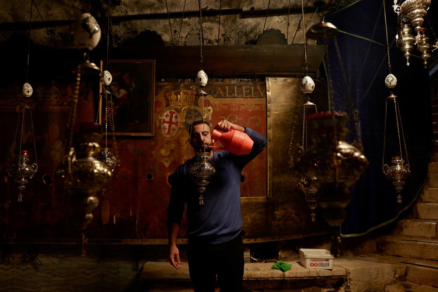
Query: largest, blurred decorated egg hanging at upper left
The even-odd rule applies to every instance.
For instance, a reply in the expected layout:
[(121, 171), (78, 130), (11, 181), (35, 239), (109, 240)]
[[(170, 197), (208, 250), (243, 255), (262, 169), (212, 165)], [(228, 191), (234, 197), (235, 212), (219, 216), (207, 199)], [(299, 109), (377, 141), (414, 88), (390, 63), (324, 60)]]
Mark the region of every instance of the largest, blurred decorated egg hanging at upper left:
[(96, 19), (89, 13), (84, 13), (76, 19), (73, 37), (78, 49), (94, 49), (100, 41), (101, 30)]

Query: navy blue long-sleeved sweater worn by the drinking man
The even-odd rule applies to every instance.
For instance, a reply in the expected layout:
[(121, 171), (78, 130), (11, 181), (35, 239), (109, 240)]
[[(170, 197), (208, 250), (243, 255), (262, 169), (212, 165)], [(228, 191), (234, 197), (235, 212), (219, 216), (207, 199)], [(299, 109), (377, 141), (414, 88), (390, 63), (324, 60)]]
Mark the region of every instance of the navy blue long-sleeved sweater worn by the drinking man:
[(190, 240), (203, 243), (224, 243), (234, 239), (242, 228), (240, 183), (242, 170), (266, 148), (266, 138), (245, 128), (254, 141), (251, 153), (234, 155), (228, 151), (214, 152), (210, 163), (216, 173), (211, 176), (205, 192), (204, 204), (199, 205), (199, 193), (188, 173), (195, 158), (187, 160), (172, 175), (172, 190), (168, 206), (168, 224), (181, 223), (187, 204), (187, 235)]

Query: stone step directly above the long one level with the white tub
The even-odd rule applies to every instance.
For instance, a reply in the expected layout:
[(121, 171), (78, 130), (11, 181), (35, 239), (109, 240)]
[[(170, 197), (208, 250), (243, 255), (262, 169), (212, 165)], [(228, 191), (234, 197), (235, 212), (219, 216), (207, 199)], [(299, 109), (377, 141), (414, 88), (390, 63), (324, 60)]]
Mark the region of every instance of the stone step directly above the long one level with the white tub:
[(437, 230), (436, 220), (407, 219), (397, 223), (395, 233), (409, 237), (438, 238)]

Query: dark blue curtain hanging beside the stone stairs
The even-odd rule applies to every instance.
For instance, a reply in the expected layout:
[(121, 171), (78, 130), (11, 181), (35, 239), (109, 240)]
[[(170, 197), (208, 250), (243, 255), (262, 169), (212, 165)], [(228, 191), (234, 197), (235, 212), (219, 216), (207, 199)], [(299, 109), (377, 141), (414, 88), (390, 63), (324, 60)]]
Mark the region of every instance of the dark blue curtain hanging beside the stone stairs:
[[(321, 42), (328, 50), (324, 63), (332, 93), (331, 110), (349, 114), (349, 143), (358, 139), (350, 105), (358, 110), (364, 155), (370, 162), (351, 188), (353, 199), (340, 227), (342, 237), (364, 235), (400, 218), (410, 211), (427, 179), (433, 146), (428, 71), (418, 51), (413, 52), (416, 56), (407, 66), (396, 47), (399, 26), (392, 5), (392, 1), (385, 3), (391, 73), (398, 79), (391, 90), (384, 83), (390, 70), (383, 1), (364, 0), (325, 17), (339, 30), (335, 38)], [(382, 171), (385, 105), (391, 91), (398, 96), (411, 170), (401, 192), (402, 203), (397, 202), (397, 192)], [(393, 103), (388, 104), (387, 112), (385, 163), (391, 165), (391, 156), (399, 154)]]

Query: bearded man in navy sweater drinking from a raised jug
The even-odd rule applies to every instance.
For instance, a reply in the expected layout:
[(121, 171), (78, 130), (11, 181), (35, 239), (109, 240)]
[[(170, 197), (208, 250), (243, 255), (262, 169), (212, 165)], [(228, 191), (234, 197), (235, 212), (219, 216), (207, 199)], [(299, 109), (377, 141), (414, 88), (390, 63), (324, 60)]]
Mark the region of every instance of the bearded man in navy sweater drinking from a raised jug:
[[(212, 145), (211, 128), (206, 121), (191, 125), (190, 145), (195, 151)], [(250, 128), (222, 120), (214, 127), (220, 131), (245, 132), (254, 141), (251, 153), (235, 155), (228, 151), (210, 152), (209, 162), (215, 174), (209, 179), (199, 203), (196, 184), (188, 169), (196, 157), (187, 160), (169, 177), (172, 185), (168, 206), (169, 262), (180, 268), (176, 240), (187, 204), (187, 258), (195, 292), (213, 292), (217, 283), (221, 292), (241, 291), (244, 271), (244, 232), (240, 209), (242, 169), (267, 145), (266, 138)]]

